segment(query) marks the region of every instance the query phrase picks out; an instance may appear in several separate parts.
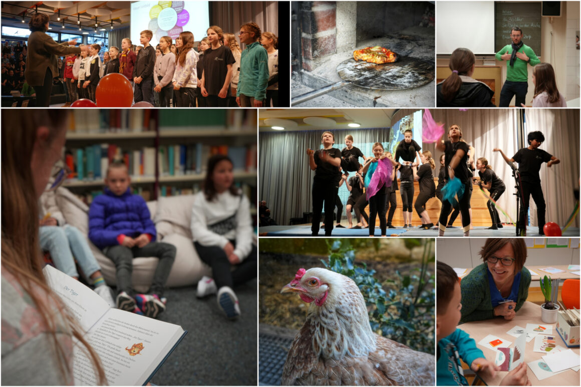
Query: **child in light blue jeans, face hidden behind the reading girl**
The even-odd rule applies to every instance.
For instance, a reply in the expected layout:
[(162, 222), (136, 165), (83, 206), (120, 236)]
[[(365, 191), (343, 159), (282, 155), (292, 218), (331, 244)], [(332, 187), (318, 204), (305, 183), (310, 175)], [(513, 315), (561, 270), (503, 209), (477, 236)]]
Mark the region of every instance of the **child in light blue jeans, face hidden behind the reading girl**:
[(66, 220), (56, 203), (56, 189), (66, 179), (67, 169), (62, 160), (53, 168), (55, 172), (39, 200), (40, 247), (51, 255), (55, 267), (64, 274), (79, 278), (75, 259), (95, 293), (107, 304), (115, 307), (112, 292), (103, 279), (101, 267), (89, 248), (87, 237), (78, 228), (66, 224)]

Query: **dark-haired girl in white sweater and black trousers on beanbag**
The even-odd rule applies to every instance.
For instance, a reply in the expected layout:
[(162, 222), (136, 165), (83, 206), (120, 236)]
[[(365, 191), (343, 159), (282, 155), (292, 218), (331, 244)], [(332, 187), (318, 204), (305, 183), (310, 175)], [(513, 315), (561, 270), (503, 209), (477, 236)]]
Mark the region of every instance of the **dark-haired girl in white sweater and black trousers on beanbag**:
[[(256, 277), (257, 249), (252, 243), (250, 202), (234, 185), (234, 164), (228, 156), (208, 160), (202, 191), (192, 207), (193, 244), (212, 277), (198, 282), (198, 297), (218, 293), (218, 306), (228, 318), (240, 314), (235, 286)], [(231, 271), (234, 266), (234, 271)]]

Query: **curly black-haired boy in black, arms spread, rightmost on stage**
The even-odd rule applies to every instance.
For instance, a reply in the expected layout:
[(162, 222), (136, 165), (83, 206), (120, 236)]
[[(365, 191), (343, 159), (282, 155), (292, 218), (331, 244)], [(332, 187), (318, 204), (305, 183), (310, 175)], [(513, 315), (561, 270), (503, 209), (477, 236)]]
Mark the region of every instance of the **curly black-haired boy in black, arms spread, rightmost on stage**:
[(539, 149), (539, 146), (544, 142), (544, 135), (540, 131), (530, 132), (528, 134), (529, 146), (521, 148), (509, 159), (504, 152), (499, 148), (494, 148), (494, 152), (500, 152), (503, 159), (507, 163), (517, 162), (518, 171), (521, 176), (521, 192), (522, 203), (519, 212), (519, 230), (522, 235), (526, 235), (526, 214), (529, 212), (530, 196), (533, 196), (537, 206), (537, 222), (539, 223), (539, 235), (544, 235), (543, 227), (545, 224), (545, 201), (543, 196), (543, 189), (541, 188), (541, 179), (539, 171), (543, 163), (547, 163), (547, 167), (558, 164), (561, 160), (557, 157)]

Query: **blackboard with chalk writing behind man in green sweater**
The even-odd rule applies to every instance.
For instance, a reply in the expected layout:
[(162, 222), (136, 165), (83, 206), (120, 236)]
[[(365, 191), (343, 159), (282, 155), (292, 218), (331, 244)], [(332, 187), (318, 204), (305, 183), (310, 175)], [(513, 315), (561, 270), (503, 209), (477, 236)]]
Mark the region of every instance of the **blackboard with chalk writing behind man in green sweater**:
[(511, 28), (520, 27), (522, 41), (541, 55), (541, 2), (495, 2), (494, 3), (494, 48), (500, 51), (511, 44)]

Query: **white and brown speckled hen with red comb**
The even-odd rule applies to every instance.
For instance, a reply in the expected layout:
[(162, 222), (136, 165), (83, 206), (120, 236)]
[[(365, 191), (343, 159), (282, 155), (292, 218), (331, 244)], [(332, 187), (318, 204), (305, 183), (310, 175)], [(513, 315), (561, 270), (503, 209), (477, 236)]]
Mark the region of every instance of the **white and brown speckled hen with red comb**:
[(311, 303), (282, 371), (282, 385), (434, 385), (435, 358), (376, 335), (363, 295), (345, 275), (299, 269), (281, 293)]

